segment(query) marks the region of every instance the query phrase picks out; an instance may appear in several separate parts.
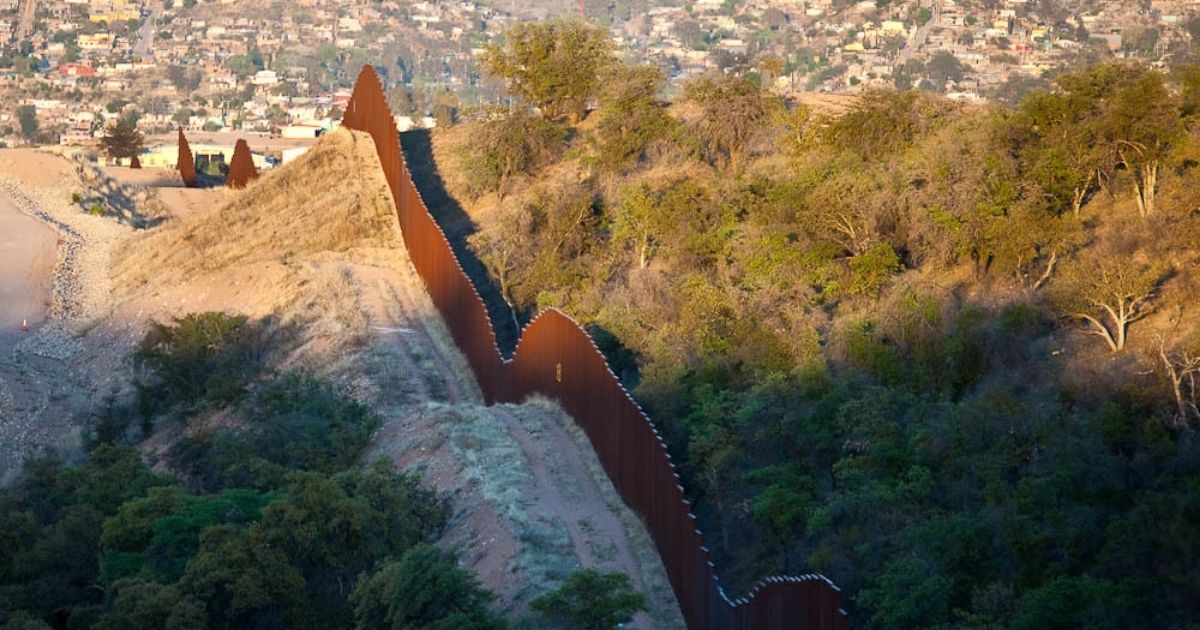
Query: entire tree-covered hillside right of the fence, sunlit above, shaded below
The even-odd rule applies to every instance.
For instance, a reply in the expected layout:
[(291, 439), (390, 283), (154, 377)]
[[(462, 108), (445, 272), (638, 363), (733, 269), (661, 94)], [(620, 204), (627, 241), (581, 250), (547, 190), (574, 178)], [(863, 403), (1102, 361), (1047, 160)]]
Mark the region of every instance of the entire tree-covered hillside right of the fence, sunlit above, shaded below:
[(1200, 616), (1200, 70), (827, 115), (725, 76), (660, 102), (580, 29), (491, 48), (520, 104), (437, 164), (504, 300), (636, 386), (727, 589), (820, 571), (870, 628)]

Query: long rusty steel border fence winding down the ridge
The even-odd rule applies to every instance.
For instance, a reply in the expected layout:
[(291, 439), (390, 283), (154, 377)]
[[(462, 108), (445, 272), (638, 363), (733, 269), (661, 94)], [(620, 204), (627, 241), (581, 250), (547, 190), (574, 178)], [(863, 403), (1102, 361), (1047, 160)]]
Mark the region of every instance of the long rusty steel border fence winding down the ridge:
[(823, 576), (768, 577), (742, 598), (725, 593), (662, 437), (578, 323), (545, 311), (526, 326), (512, 359), (504, 360), (482, 298), (413, 184), (373, 67), (362, 68), (342, 124), (374, 140), (413, 265), (486, 402), (521, 402), (539, 394), (557, 400), (580, 424), (654, 539), (689, 628), (848, 626), (842, 594)]

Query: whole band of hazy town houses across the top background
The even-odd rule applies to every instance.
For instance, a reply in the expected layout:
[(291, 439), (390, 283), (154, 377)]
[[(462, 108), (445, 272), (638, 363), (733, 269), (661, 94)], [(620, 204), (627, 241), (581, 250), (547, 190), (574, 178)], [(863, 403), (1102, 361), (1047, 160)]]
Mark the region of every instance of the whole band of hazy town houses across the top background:
[[(539, 1), (604, 19), (626, 56), (672, 82), (754, 72), (781, 94), (919, 86), (965, 100), (1084, 54), (1165, 64), (1200, 23), (1200, 0), (648, 0), (625, 16)], [(95, 142), (121, 116), (314, 137), (364, 62), (390, 88), (496, 98), (476, 59), (517, 19), (512, 0), (0, 0), (0, 142), (22, 142), (28, 106), (38, 142)], [(416, 96), (396, 103), (402, 127), (432, 124)]]

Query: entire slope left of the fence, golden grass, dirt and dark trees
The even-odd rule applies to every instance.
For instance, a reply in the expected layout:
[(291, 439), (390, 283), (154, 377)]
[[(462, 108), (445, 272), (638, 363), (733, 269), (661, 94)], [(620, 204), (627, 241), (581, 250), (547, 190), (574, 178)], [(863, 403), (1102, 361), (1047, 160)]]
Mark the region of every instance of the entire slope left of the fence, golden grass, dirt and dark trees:
[(13, 455), (0, 628), (682, 628), (586, 437), (482, 404), (368, 136), (214, 194), (114, 252), (85, 444)]

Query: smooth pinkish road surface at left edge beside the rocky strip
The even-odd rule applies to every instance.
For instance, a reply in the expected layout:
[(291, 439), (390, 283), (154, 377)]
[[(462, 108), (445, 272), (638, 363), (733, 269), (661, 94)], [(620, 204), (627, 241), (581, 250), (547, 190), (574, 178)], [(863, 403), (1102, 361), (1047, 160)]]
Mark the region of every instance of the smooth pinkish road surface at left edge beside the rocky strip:
[(0, 197), (0, 354), (24, 335), (23, 320), (46, 319), (54, 282), (58, 235)]

